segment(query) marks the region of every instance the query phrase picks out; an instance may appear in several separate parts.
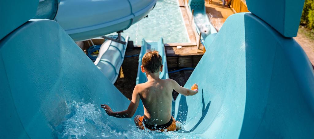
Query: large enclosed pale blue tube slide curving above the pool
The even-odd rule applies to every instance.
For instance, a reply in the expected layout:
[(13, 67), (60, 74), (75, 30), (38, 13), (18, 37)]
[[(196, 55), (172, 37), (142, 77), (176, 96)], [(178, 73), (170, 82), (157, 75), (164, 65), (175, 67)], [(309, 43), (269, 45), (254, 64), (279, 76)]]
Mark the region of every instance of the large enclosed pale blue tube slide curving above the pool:
[(55, 20), (74, 41), (125, 30), (147, 16), (157, 0), (61, 0)]

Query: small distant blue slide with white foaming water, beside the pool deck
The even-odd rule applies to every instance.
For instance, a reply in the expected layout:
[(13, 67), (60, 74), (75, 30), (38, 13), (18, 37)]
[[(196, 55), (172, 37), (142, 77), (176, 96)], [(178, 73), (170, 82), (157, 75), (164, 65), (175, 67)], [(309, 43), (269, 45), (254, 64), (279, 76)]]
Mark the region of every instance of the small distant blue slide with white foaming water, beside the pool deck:
[(211, 24), (208, 15), (205, 9), (205, 1), (203, 0), (189, 0), (188, 5), (189, 9), (194, 10), (194, 22), (196, 24), (196, 30), (198, 35), (201, 35), (201, 43), (208, 49), (210, 43), (214, 40), (214, 37), (217, 34), (217, 30)]

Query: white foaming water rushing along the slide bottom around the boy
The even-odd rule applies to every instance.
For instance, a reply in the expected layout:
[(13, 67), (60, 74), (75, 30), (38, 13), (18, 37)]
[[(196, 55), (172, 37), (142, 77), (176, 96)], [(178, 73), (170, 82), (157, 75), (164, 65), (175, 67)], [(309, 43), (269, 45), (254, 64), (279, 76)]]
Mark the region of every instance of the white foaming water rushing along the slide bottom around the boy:
[(68, 104), (68, 115), (57, 127), (58, 138), (200, 138), (193, 133), (152, 132), (138, 130), (128, 125), (127, 131), (116, 131), (108, 126), (108, 115), (95, 104), (72, 101)]

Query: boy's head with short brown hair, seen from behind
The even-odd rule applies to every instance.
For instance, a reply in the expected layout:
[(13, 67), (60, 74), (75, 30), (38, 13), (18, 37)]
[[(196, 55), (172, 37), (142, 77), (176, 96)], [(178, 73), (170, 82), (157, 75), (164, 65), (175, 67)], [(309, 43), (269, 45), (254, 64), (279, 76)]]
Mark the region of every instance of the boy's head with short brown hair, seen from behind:
[(149, 51), (144, 54), (142, 59), (142, 66), (148, 73), (156, 73), (160, 71), (162, 65), (162, 58), (156, 50)]

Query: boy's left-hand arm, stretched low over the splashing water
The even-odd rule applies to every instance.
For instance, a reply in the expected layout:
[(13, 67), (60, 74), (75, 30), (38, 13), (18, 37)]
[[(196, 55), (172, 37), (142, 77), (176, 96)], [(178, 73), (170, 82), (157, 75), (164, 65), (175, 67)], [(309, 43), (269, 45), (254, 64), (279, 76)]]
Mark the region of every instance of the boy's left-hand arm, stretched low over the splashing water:
[[(131, 118), (131, 117), (133, 117), (136, 109), (138, 108), (139, 99), (140, 99), (137, 88), (138, 88), (138, 86), (135, 86), (135, 88), (133, 90), (133, 94), (132, 94), (132, 100), (131, 100), (127, 110), (123, 110), (123, 111), (119, 111), (119, 112), (113, 112), (107, 104), (101, 104), (101, 108), (104, 108), (106, 113), (109, 116), (114, 116), (117, 118)], [(117, 100), (117, 101), (119, 101), (119, 100)]]

